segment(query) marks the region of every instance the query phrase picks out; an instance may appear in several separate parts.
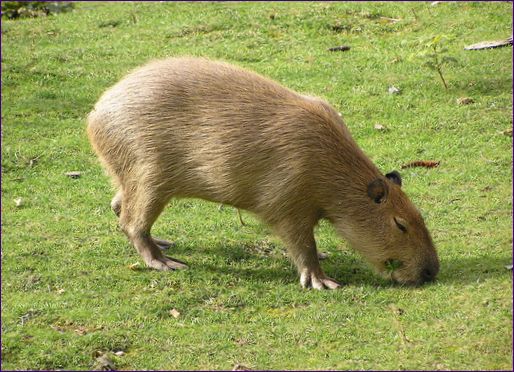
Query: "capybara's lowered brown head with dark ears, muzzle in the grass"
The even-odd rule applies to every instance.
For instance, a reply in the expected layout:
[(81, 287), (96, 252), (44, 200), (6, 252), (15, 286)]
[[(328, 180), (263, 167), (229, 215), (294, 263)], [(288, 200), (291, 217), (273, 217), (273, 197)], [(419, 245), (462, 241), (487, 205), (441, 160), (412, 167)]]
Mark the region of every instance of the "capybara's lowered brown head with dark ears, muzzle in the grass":
[(346, 221), (342, 233), (382, 276), (420, 285), (435, 279), (439, 259), (423, 217), (401, 185), (396, 171), (371, 181), (362, 190), (366, 203), (353, 206), (356, 218)]

